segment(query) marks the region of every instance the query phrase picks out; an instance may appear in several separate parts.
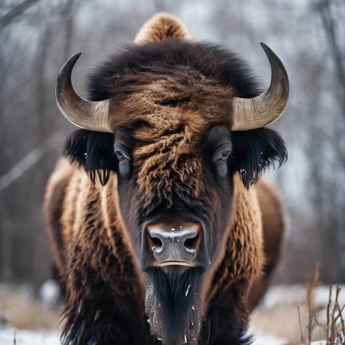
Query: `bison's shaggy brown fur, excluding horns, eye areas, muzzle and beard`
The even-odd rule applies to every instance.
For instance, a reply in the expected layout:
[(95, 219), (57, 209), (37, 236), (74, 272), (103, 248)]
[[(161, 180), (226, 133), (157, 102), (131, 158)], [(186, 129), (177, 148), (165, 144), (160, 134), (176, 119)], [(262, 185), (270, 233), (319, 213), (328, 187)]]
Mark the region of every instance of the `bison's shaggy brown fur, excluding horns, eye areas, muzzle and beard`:
[[(114, 160), (105, 153), (114, 136), (81, 131), (66, 146), (67, 155), (78, 164), (61, 161), (48, 182), (46, 221), (55, 264), (66, 285), (66, 344), (159, 344), (150, 332), (159, 337), (164, 331), (161, 321), (155, 320), (159, 311), (153, 313), (152, 305), (145, 305), (148, 278), (140, 267), (137, 224), (158, 208), (181, 205), (206, 219), (217, 253), (197, 290), (200, 304), (195, 320), (201, 323), (169, 344), (183, 342), (186, 334), (188, 344), (197, 344), (198, 339), (199, 344), (246, 344), (248, 298), (253, 307), (262, 297), (265, 288), (257, 293), (257, 286), (266, 286), (284, 232), (282, 208), (273, 188), (264, 182), (246, 187), (258, 179), (257, 166), (277, 158), (280, 144), (268, 130), (232, 135), (233, 167), (226, 184), (219, 187), (207, 133), (217, 125), (230, 130), (232, 97), (241, 88), (248, 97), (255, 90), (250, 89), (249, 79), (244, 81), (240, 73), (236, 77), (236, 59), (229, 67), (225, 52), (186, 38), (177, 19), (159, 14), (139, 32), (140, 46), (113, 60), (117, 61), (112, 62), (114, 75), (110, 78), (101, 71), (90, 83), (92, 99), (112, 99), (115, 138), (119, 128), (130, 133), (130, 180), (122, 181), (116, 167), (104, 166)], [(167, 61), (156, 62), (163, 59), (156, 52), (162, 51)], [(217, 63), (210, 66), (210, 61)], [(235, 75), (230, 78), (233, 83), (227, 74)], [(266, 150), (265, 135), (272, 137)], [(79, 167), (90, 172), (88, 159), (94, 159), (96, 150), (90, 142), (99, 145), (95, 161), (101, 162), (101, 168), (94, 169), (106, 174), (103, 187)], [(260, 156), (258, 161), (252, 151)], [(253, 166), (250, 176), (239, 174), (246, 159)], [(152, 324), (146, 322), (145, 313), (152, 314)]]

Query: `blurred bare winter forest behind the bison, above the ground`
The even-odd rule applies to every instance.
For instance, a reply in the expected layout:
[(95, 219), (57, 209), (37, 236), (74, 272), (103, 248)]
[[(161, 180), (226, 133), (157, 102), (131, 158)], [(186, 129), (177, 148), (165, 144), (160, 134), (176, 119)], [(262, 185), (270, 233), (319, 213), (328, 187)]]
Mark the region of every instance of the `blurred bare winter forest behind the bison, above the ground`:
[(0, 3), (0, 282), (38, 289), (51, 276), (41, 204), (65, 137), (75, 128), (55, 103), (55, 80), (75, 52), (74, 84), (131, 43), (158, 11), (177, 15), (197, 40), (221, 43), (270, 81), (259, 42), (290, 77), (286, 114), (274, 124), (288, 145), (268, 177), (290, 214), (276, 283), (345, 282), (344, 0), (2, 0)]

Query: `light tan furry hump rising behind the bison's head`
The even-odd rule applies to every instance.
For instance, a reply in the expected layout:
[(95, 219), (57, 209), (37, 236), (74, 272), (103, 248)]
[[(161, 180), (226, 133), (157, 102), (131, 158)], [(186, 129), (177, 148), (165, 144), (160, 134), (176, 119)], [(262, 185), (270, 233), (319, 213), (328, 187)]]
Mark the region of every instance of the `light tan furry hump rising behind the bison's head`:
[(141, 27), (135, 43), (151, 43), (168, 39), (190, 39), (190, 36), (179, 19), (168, 13), (158, 13)]

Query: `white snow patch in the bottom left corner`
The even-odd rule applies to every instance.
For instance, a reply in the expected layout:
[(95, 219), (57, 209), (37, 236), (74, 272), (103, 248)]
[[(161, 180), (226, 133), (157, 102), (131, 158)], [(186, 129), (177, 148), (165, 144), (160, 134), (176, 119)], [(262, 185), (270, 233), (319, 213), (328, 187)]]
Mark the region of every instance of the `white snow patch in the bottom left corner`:
[[(15, 342), (14, 342), (15, 339)], [(59, 345), (59, 334), (53, 331), (22, 331), (0, 328), (1, 345)]]

